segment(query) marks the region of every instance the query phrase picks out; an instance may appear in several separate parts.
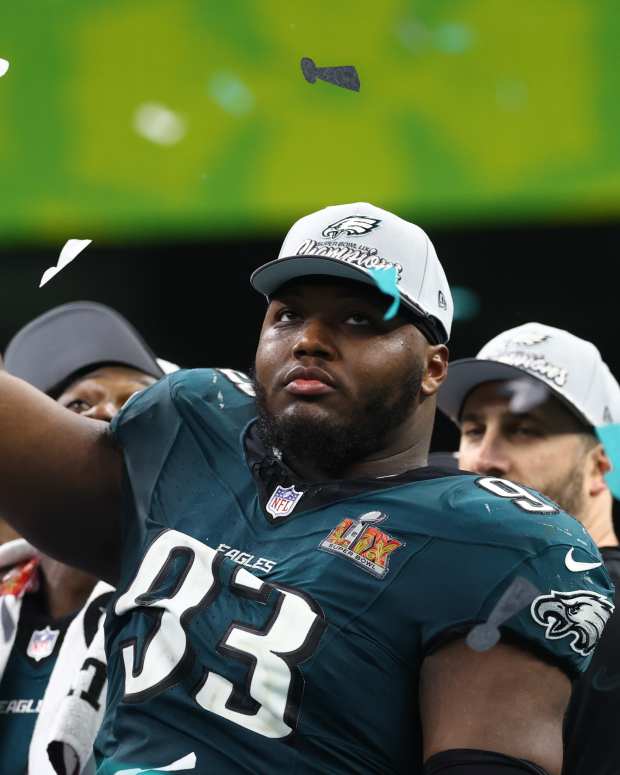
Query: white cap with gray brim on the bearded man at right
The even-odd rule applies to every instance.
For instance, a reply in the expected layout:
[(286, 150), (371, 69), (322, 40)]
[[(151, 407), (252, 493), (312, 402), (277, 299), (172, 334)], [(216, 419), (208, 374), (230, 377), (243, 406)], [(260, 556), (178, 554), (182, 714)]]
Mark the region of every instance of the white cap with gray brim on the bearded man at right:
[(620, 422), (620, 386), (600, 352), (591, 342), (542, 323), (504, 331), (475, 358), (451, 363), (439, 408), (458, 423), (465, 399), (478, 385), (524, 374), (542, 382), (586, 425)]

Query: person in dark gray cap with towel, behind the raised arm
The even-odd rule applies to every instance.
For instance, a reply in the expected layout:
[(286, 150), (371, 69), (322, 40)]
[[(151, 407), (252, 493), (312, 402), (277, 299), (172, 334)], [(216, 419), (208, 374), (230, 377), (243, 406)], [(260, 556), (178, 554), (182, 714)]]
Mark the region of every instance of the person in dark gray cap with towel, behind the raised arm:
[[(5, 368), (70, 411), (105, 422), (133, 393), (164, 374), (134, 327), (115, 310), (93, 302), (64, 304), (28, 323), (7, 346)], [(42, 520), (44, 515), (43, 510)], [(46, 746), (52, 734), (50, 717), (56, 718), (59, 711), (59, 698), (51, 699), (47, 687), (51, 681), (62, 683), (60, 671), (66, 673), (62, 694), (69, 691), (82, 666), (79, 645), (85, 651), (92, 633), (74, 635), (68, 671), (60, 657), (65, 654), (65, 637), (73, 634), (69, 628), (87, 601), (88, 612), (82, 612), (81, 620), (92, 628), (91, 620), (99, 620), (99, 606), (110, 598), (110, 591), (100, 588), (92, 596), (97, 581), (93, 575), (40, 554), (24, 541), (0, 549), (0, 567), (0, 600), (10, 595), (18, 606), (10, 636), (0, 643), (0, 772), (44, 775), (55, 772)], [(8, 614), (2, 610), (6, 636)], [(100, 703), (105, 666), (90, 670), (92, 691), (87, 686), (86, 693), (91, 702)]]

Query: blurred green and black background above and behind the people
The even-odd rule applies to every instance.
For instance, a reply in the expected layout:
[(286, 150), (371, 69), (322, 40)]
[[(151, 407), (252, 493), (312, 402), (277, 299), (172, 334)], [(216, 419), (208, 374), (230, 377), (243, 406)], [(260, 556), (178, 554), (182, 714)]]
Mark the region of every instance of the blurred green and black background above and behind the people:
[[(617, 0), (0, 2), (0, 349), (93, 299), (162, 357), (247, 369), (252, 269), (366, 200), (432, 238), (453, 357), (538, 320), (620, 374), (619, 38)], [(93, 242), (39, 288), (70, 238)]]

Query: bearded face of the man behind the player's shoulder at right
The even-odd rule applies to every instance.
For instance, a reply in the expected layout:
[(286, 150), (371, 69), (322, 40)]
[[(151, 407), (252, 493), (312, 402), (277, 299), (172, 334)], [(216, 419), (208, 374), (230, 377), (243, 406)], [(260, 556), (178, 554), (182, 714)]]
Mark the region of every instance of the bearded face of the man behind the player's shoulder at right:
[(473, 390), (463, 406), (459, 466), (525, 484), (579, 516), (586, 497), (580, 423), (555, 398), (525, 414), (509, 409), (502, 383)]

